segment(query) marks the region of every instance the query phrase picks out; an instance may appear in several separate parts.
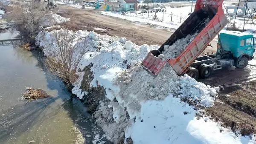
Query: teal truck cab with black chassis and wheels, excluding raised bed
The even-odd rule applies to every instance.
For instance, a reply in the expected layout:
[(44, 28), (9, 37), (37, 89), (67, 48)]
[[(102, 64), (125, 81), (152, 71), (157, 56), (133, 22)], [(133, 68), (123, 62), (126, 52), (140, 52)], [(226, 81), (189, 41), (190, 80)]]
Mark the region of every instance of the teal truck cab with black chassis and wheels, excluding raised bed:
[(208, 78), (212, 71), (230, 66), (244, 68), (253, 59), (255, 39), (246, 32), (221, 31), (218, 35), (217, 52), (196, 58), (187, 74), (192, 78)]

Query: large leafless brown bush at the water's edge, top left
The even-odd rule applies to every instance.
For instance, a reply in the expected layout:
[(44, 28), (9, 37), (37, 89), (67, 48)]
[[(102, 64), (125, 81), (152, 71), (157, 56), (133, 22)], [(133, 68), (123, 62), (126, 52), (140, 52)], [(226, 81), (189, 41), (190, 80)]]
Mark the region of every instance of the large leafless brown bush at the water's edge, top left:
[(28, 6), (13, 6), (7, 17), (15, 21), (14, 28), (19, 30), (25, 40), (34, 43), (36, 35), (41, 31), (42, 23), (49, 15), (43, 4), (32, 2)]

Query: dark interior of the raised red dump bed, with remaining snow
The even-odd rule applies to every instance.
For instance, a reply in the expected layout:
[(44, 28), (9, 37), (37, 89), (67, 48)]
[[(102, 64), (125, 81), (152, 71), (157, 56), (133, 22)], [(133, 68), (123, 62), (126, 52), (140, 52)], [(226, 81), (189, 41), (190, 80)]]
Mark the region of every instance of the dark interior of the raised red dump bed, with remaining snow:
[[(158, 51), (152, 54), (158, 57), (160, 54), (169, 55), (170, 58), (176, 58), (180, 55), (186, 46), (204, 29), (212, 17), (215, 15), (214, 8), (207, 6), (193, 12), (180, 27), (160, 46)], [(168, 49), (170, 48), (170, 49)]]

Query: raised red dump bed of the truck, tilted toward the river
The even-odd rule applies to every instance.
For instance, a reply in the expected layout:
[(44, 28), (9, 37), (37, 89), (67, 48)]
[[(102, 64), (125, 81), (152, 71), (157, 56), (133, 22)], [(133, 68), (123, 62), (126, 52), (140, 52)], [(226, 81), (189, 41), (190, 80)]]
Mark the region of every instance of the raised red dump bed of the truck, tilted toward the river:
[[(152, 75), (157, 76), (163, 66), (168, 62), (178, 75), (183, 75), (189, 65), (206, 49), (212, 39), (218, 35), (221, 29), (228, 23), (227, 17), (222, 9), (223, 0), (207, 1), (198, 0), (195, 5), (195, 12), (193, 12), (187, 20), (175, 31), (175, 33), (157, 50), (148, 53), (142, 62), (142, 66)], [(200, 23), (201, 12), (204, 9), (210, 9), (214, 15), (209, 14), (209, 23)], [(212, 15), (212, 17), (211, 17)], [(198, 20), (197, 20), (198, 19)], [(194, 21), (193, 21), (194, 20)], [(206, 19), (204, 19), (206, 21)], [(193, 26), (196, 23), (196, 26)], [(164, 45), (172, 45), (176, 40), (187, 35), (192, 35), (198, 32), (198, 35), (186, 46), (185, 50), (177, 56), (177, 58), (170, 58), (169, 60), (161, 60), (157, 58), (164, 50)]]

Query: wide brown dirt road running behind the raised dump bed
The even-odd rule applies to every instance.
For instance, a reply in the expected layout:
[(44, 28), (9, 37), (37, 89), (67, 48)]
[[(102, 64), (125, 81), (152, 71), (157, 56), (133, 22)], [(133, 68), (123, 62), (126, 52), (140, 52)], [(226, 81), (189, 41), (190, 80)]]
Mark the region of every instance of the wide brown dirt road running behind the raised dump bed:
[[(159, 28), (147, 24), (134, 23), (116, 17), (108, 17), (99, 14), (92, 9), (77, 9), (71, 6), (58, 5), (55, 13), (62, 17), (70, 18), (69, 22), (64, 23), (73, 30), (95, 31), (99, 34), (110, 36), (126, 37), (137, 45), (162, 45), (175, 31), (175, 29)], [(94, 28), (106, 29), (105, 31), (95, 30)], [(216, 42), (211, 43), (212, 47), (207, 47), (205, 52), (215, 52)]]

